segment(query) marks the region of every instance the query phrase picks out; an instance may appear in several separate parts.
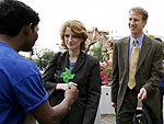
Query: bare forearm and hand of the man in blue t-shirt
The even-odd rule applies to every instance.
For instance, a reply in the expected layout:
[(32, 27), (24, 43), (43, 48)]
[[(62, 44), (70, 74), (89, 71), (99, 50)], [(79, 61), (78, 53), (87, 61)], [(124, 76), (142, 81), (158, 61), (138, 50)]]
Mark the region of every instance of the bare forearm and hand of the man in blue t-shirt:
[(48, 100), (38, 105), (35, 110), (32, 111), (39, 124), (58, 124), (61, 119), (67, 114), (68, 110), (72, 103), (79, 97), (79, 90), (77, 84), (71, 83), (70, 88), (65, 92), (65, 99), (59, 104), (51, 108)]

